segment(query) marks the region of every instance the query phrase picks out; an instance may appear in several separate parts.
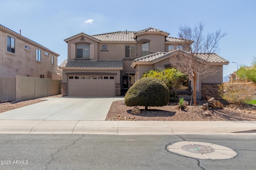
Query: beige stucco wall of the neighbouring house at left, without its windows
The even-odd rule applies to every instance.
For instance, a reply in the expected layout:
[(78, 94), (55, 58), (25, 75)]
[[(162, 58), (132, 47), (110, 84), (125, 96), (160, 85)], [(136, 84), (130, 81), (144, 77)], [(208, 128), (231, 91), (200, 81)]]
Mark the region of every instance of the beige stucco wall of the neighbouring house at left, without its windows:
[[(7, 51), (7, 35), (15, 39), (15, 53)], [(30, 47), (25, 49), (24, 45)], [(36, 61), (36, 47), (41, 49), (41, 62)], [(45, 55), (49, 53), (49, 56)], [(15, 77), (16, 75), (48, 78), (48, 71), (57, 73), (57, 56), (54, 55), (52, 66), (52, 53), (15, 36), (0, 30), (0, 77)]]

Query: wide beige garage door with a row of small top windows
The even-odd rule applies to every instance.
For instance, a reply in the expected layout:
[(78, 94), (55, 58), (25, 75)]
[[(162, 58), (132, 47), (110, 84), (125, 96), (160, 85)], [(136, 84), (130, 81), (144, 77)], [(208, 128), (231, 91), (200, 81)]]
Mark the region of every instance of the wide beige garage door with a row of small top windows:
[(68, 76), (68, 96), (115, 96), (114, 76)]

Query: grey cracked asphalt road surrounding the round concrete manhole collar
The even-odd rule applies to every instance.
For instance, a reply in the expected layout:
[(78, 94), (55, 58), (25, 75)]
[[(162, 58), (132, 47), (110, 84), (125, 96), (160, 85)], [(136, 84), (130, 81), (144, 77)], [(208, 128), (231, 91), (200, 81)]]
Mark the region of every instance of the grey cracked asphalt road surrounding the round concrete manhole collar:
[[(234, 149), (226, 160), (168, 152), (178, 141)], [(1, 170), (255, 170), (255, 135), (0, 135)]]

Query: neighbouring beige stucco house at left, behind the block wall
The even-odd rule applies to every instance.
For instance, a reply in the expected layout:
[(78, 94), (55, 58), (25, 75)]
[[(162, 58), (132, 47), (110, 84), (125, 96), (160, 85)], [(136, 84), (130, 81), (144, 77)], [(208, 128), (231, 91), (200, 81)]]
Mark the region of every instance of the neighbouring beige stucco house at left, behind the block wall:
[(16, 75), (60, 80), (59, 54), (0, 25), (0, 77)]

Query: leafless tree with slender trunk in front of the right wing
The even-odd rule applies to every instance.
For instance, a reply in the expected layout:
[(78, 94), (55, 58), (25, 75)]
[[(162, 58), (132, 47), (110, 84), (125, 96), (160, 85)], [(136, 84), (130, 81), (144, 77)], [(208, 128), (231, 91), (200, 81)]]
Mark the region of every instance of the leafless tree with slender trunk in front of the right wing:
[(171, 57), (171, 65), (184, 72), (193, 79), (193, 99), (196, 106), (196, 80), (202, 79), (216, 73), (216, 68), (209, 61), (214, 53), (220, 51), (218, 42), (227, 35), (221, 33), (221, 29), (214, 33), (203, 34), (204, 24), (202, 22), (196, 24), (192, 29), (190, 26), (180, 26), (178, 36), (186, 40), (184, 50), (177, 50)]

